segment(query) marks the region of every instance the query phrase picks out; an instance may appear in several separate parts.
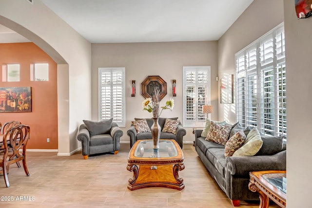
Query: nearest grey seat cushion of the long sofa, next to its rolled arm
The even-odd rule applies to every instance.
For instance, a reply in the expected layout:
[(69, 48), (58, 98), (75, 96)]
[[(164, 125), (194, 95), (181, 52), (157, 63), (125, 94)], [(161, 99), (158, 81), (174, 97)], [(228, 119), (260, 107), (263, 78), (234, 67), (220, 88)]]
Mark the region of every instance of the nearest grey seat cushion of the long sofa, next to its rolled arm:
[(215, 165), (216, 170), (224, 175), (224, 169), (226, 167), (224, 149), (222, 148), (210, 148), (206, 152), (207, 158)]

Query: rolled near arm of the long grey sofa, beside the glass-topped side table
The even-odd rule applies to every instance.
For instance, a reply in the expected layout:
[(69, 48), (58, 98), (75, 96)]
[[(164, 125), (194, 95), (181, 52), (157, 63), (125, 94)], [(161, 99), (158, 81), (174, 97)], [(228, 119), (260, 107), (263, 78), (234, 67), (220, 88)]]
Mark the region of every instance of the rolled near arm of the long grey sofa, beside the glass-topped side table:
[(252, 171), (286, 170), (286, 150), (272, 156), (231, 156), (226, 158), (226, 174), (249, 175)]

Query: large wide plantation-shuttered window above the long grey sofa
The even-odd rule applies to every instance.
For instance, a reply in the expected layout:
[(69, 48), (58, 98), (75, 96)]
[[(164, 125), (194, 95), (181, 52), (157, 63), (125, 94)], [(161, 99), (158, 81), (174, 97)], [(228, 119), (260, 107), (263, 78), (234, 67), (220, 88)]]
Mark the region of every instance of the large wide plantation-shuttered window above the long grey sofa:
[(235, 54), (236, 115), (264, 135), (286, 136), (286, 64), (283, 23)]

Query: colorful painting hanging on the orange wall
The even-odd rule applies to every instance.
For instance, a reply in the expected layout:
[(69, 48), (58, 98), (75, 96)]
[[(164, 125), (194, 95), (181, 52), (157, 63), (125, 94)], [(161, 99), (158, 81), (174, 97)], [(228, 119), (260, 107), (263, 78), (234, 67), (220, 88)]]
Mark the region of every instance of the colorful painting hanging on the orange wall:
[(0, 87), (0, 113), (31, 112), (31, 87)]

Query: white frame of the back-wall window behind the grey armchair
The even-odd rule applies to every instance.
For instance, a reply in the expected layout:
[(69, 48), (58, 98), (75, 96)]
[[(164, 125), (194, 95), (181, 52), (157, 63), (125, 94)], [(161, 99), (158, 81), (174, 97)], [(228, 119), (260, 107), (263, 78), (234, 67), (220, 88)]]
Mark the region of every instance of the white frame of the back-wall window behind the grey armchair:
[[(115, 119), (113, 120), (114, 122), (117, 122), (119, 127), (126, 127), (126, 98), (125, 98), (125, 80), (126, 80), (126, 68), (125, 67), (109, 67), (109, 68), (105, 68), (105, 67), (99, 67), (98, 68), (98, 121), (102, 121), (102, 80), (101, 80), (101, 74), (102, 72), (110, 72), (111, 75), (113, 74), (113, 72), (116, 72), (116, 70), (118, 70), (118, 72), (121, 73), (121, 84), (114, 84), (113, 82), (110, 83), (111, 86), (111, 100), (113, 100), (113, 96), (114, 93), (112, 93), (113, 88), (112, 86), (119, 86), (121, 87), (121, 121), (116, 121)], [(112, 78), (113, 76), (111, 76)], [(113, 112), (113, 104), (111, 101), (111, 105), (110, 105), (110, 109), (111, 109), (111, 118), (115, 118), (114, 117), (114, 112)], [(109, 119), (109, 118), (105, 118), (105, 119)]]

